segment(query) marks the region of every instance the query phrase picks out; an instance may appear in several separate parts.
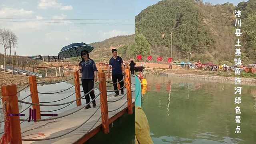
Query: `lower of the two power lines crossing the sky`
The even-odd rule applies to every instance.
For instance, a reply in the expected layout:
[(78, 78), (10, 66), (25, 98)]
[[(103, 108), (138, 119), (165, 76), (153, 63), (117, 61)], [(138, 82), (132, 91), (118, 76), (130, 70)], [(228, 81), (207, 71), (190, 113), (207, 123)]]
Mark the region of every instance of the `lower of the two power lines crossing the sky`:
[[(15, 21), (0, 20), (0, 22), (32, 22), (32, 21)], [(134, 24), (118, 24), (118, 23), (82, 23), (82, 22), (35, 22), (35, 23), (54, 23), (54, 24), (113, 24), (113, 25), (134, 25)]]

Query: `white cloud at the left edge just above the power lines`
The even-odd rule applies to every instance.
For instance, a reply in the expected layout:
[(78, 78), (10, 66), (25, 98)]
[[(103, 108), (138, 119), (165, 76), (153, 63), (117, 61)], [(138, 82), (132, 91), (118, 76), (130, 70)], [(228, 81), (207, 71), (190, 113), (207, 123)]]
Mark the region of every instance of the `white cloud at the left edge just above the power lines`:
[(27, 16), (33, 14), (32, 10), (24, 10), (22, 9), (15, 9), (15, 8), (2, 8), (0, 10), (0, 17), (8, 17), (8, 16)]

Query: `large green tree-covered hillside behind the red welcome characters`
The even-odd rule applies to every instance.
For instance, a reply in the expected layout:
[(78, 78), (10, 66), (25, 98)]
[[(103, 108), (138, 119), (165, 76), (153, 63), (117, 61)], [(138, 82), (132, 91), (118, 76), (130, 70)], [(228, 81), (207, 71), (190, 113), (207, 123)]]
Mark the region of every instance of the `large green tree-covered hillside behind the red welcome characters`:
[(212, 5), (202, 0), (163, 0), (136, 16), (136, 35), (144, 35), (153, 57), (233, 63), (236, 44), (234, 11), (242, 10), (243, 62), (256, 61), (256, 1)]

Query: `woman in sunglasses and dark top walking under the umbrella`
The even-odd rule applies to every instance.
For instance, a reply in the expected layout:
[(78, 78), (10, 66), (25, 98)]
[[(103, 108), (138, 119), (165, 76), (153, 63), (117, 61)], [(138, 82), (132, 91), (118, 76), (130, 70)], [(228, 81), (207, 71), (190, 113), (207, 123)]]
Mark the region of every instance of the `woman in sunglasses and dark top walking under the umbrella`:
[[(79, 63), (79, 70), (82, 73), (82, 87), (84, 94), (88, 93), (94, 88), (94, 82), (97, 82), (97, 67), (94, 60), (90, 59), (89, 53), (86, 50), (81, 52), (82, 61)], [(94, 90), (85, 96), (86, 104), (90, 102), (90, 96), (92, 100), (95, 98)], [(96, 107), (96, 102), (93, 100), (92, 107)], [(91, 108), (91, 104), (87, 105), (84, 109)]]

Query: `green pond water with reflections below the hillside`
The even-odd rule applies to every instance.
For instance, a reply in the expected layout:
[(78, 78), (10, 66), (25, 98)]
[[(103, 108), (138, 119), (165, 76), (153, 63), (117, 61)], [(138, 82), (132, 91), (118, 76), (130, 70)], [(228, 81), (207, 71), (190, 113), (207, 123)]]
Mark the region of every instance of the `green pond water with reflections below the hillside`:
[(242, 84), (242, 103), (234, 104), (230, 82), (149, 75), (147, 81), (142, 108), (154, 144), (256, 144), (256, 86)]

